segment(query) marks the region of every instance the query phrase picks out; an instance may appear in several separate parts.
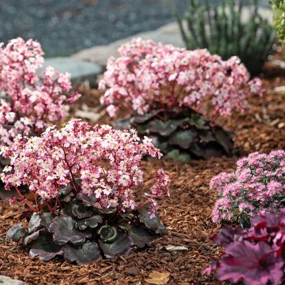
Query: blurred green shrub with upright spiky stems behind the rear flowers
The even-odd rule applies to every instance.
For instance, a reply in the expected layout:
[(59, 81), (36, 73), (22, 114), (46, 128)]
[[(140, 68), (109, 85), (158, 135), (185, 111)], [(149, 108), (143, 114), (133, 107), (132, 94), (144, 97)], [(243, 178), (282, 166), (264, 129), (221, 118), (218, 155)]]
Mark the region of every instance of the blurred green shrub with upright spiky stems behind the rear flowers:
[(251, 3), (250, 19), (243, 23), (242, 0), (222, 0), (221, 6), (210, 5), (208, 0), (200, 4), (197, 0), (188, 0), (187, 30), (175, 12), (186, 48), (207, 48), (224, 60), (235, 55), (250, 73), (262, 71), (264, 62), (273, 51), (275, 31), (260, 16), (258, 0)]

